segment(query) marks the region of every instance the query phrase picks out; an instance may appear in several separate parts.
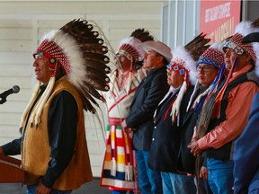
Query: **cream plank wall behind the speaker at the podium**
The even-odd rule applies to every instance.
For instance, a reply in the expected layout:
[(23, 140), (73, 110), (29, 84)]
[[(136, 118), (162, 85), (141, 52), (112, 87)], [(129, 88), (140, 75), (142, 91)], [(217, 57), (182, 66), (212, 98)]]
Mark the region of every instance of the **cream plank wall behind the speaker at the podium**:
[[(160, 40), (161, 1), (4, 1), (0, 2), (0, 93), (17, 84), (21, 91), (0, 105), (0, 145), (19, 137), (22, 110), (35, 84), (32, 52), (41, 36), (75, 18), (94, 20), (112, 47), (137, 28)], [(105, 111), (103, 109), (103, 117)], [(103, 163), (103, 131), (95, 116), (85, 112), (86, 138), (94, 176)], [(102, 116), (101, 116), (102, 117)]]

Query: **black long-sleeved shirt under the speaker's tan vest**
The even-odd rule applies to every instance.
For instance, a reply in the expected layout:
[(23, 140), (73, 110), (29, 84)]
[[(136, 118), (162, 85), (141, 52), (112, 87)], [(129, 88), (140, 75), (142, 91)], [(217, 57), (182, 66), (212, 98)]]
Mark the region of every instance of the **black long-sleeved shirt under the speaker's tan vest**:
[[(40, 87), (41, 94), (44, 92), (45, 88), (45, 86)], [(74, 148), (76, 145), (76, 128), (76, 100), (71, 93), (62, 91), (61, 93), (58, 93), (49, 107), (48, 131), (49, 147), (51, 149), (49, 157), (51, 160), (49, 161), (47, 172), (41, 180), (48, 188), (52, 188), (54, 182), (66, 169), (74, 154)], [(21, 154), (21, 142), (22, 137), (3, 145), (4, 154)]]

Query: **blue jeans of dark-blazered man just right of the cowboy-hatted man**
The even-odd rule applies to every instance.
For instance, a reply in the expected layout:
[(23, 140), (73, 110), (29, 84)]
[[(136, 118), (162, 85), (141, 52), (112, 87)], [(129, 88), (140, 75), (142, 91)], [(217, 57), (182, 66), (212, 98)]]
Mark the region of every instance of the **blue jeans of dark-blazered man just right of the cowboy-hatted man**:
[(173, 172), (161, 172), (165, 194), (196, 194), (194, 177)]

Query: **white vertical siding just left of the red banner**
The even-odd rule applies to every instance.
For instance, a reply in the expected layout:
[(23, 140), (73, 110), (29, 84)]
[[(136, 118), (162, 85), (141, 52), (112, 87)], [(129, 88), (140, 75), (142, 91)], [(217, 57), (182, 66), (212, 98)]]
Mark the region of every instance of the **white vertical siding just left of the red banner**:
[(163, 41), (183, 46), (198, 35), (200, 1), (168, 0), (163, 12)]

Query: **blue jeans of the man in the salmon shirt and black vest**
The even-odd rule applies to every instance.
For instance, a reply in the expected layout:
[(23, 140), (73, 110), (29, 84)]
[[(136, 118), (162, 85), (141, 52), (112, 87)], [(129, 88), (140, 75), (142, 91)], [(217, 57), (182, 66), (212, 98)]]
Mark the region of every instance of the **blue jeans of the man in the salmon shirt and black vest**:
[(207, 159), (209, 170), (209, 185), (213, 194), (233, 194), (233, 161), (221, 161), (214, 158)]

